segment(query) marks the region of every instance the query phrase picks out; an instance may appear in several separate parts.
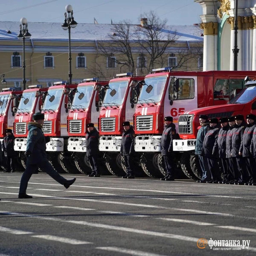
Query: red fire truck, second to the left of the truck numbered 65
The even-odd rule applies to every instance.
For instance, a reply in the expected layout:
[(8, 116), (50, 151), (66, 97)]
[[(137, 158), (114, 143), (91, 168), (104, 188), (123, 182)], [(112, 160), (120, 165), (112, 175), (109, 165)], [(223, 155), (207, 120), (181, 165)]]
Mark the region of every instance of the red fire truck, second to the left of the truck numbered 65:
[[(76, 88), (74, 100), (67, 117), (68, 141), (67, 150), (76, 152), (74, 157), (76, 168), (84, 174), (91, 172), (86, 157), (86, 125), (90, 122), (98, 129), (99, 111), (105, 96), (108, 81), (98, 78), (84, 79)], [(101, 170), (104, 166), (101, 166)]]

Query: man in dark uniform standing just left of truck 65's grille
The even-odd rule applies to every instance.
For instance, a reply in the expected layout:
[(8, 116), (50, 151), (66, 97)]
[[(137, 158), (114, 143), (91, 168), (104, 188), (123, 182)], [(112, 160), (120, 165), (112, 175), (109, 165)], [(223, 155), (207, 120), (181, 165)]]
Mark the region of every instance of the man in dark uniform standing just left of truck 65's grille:
[(132, 154), (134, 154), (135, 133), (134, 128), (130, 122), (123, 122), (124, 132), (122, 133), (122, 142), (120, 154), (125, 157), (125, 166), (127, 174), (123, 176), (124, 179), (134, 179), (134, 165), (132, 163)]

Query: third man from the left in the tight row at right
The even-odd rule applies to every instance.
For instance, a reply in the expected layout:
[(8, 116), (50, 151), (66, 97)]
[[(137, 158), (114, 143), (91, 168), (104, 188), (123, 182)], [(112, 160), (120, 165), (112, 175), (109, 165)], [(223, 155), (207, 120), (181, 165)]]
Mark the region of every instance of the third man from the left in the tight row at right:
[(221, 117), (219, 120), (221, 124), (221, 128), (218, 133), (218, 138), (215, 142), (213, 147), (212, 154), (219, 158), (219, 167), (220, 173), (223, 173), (223, 180), (219, 181), (220, 184), (226, 184), (227, 181), (230, 181), (231, 177), (228, 171), (228, 159), (226, 154), (226, 139), (227, 139), (227, 132), (230, 129), (228, 124), (227, 117)]

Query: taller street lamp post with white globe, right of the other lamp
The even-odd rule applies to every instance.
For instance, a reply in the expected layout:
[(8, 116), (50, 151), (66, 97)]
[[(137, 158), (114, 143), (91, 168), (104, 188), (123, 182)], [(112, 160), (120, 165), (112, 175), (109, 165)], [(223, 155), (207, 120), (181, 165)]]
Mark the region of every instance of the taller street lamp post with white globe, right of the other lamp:
[(71, 73), (71, 39), (70, 39), (70, 29), (71, 28), (75, 28), (77, 25), (77, 22), (74, 20), (73, 17), (73, 8), (72, 6), (69, 4), (66, 6), (66, 12), (64, 13), (65, 15), (65, 20), (64, 23), (61, 25), (62, 28), (64, 30), (68, 29), (68, 62), (69, 62), (69, 73), (68, 73), (68, 77), (69, 77), (69, 83), (72, 84), (72, 73)]

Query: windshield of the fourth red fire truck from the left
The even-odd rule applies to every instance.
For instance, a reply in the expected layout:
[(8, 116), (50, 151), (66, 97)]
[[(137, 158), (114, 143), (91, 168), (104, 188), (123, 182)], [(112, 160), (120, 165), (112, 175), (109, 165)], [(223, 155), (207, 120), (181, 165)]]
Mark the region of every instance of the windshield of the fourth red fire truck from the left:
[(93, 86), (79, 86), (75, 94), (72, 106), (76, 108), (88, 108), (93, 94)]

